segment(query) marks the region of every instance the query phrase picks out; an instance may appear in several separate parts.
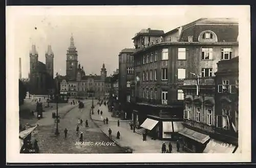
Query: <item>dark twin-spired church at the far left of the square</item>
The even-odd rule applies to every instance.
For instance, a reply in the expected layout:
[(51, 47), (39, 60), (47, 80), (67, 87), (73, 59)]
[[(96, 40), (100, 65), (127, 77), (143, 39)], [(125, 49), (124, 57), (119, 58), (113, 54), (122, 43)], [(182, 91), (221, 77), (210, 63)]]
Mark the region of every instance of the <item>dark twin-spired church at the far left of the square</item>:
[(50, 45), (45, 54), (46, 64), (38, 61), (36, 46), (32, 45), (30, 50), (30, 94), (48, 94), (54, 86), (53, 80), (53, 58), (54, 54)]

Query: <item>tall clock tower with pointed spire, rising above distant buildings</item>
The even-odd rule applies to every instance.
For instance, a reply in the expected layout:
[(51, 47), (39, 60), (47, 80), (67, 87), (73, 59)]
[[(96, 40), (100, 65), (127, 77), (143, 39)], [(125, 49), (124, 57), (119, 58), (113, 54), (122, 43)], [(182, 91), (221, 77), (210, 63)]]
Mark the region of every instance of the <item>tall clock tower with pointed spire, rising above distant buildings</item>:
[(67, 50), (66, 75), (69, 80), (75, 80), (77, 74), (77, 50), (74, 45), (73, 35), (70, 38), (70, 46)]

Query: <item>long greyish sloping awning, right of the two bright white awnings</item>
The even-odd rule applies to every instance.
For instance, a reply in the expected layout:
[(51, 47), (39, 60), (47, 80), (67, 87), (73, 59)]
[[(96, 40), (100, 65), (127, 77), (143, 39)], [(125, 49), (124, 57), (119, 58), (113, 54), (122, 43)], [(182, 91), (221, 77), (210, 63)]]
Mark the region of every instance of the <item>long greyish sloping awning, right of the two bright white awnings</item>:
[(204, 144), (206, 141), (208, 141), (210, 139), (209, 135), (188, 129), (188, 128), (184, 128), (182, 131), (178, 132), (181, 135), (184, 135), (186, 137), (189, 137), (191, 139), (194, 139), (195, 141)]

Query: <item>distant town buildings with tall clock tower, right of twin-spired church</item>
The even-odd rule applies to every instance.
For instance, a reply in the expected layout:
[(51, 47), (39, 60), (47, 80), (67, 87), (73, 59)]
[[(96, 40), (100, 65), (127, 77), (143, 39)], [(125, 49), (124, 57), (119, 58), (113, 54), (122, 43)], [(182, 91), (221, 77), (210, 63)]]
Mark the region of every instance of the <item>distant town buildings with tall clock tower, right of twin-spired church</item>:
[[(103, 99), (106, 94), (106, 87), (109, 85), (106, 82), (107, 72), (103, 63), (100, 69), (100, 75), (89, 74), (78, 63), (78, 54), (74, 45), (74, 38), (70, 38), (70, 46), (67, 50), (66, 60), (66, 76), (62, 78), (60, 90), (70, 96), (85, 96)], [(67, 92), (65, 92), (66, 90)]]

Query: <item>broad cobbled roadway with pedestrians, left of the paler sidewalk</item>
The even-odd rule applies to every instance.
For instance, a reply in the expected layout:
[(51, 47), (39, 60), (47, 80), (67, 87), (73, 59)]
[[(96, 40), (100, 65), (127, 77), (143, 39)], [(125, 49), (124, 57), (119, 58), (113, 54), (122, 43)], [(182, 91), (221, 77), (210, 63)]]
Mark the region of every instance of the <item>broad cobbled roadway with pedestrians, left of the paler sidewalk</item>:
[[(84, 101), (85, 107), (81, 110), (76, 106), (70, 110), (64, 117), (60, 119), (59, 136), (55, 136), (54, 132), (56, 125), (39, 126), (32, 134), (32, 138), (36, 138), (40, 153), (123, 153), (123, 149), (115, 146), (101, 145), (75, 145), (79, 142), (79, 134), (83, 132), (83, 142), (98, 142), (112, 143), (104, 133), (90, 119), (91, 101)], [(79, 126), (79, 133), (76, 134), (76, 126), (78, 118), (83, 120), (82, 126)], [(53, 120), (53, 119), (51, 119)], [(85, 122), (88, 120), (89, 128), (86, 128)], [(64, 130), (68, 129), (68, 136), (65, 139)]]

